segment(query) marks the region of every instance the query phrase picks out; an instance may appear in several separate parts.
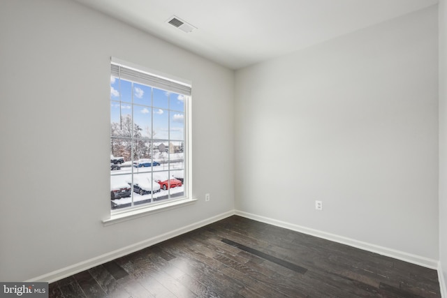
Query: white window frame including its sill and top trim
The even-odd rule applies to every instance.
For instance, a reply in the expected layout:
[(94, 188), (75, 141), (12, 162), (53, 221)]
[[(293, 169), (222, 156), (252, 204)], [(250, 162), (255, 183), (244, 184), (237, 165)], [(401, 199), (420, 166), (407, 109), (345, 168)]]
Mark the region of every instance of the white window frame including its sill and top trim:
[[(191, 81), (184, 80), (179, 77), (174, 77), (173, 75), (167, 75), (165, 73), (161, 73), (156, 70), (152, 70), (149, 68), (145, 68), (143, 66), (138, 66), (136, 64), (132, 64), (128, 61), (123, 61), (121, 59), (117, 59), (115, 57), (111, 57), (111, 64), (115, 66), (123, 66), (125, 68), (135, 70), (139, 73), (146, 73), (151, 75), (152, 77), (159, 77), (161, 79), (161, 84), (159, 82), (154, 81), (154, 84), (151, 84), (152, 87), (159, 89), (163, 88), (163, 84), (166, 83), (166, 80), (177, 84), (177, 87), (182, 88), (183, 85), (186, 88), (191, 89)], [(138, 83), (138, 82), (137, 82)], [(110, 102), (110, 98), (109, 98)], [(112, 225), (115, 223), (120, 223), (122, 221), (128, 221), (133, 218), (139, 218), (141, 216), (147, 216), (149, 214), (159, 213), (161, 211), (168, 211), (171, 209), (176, 209), (179, 207), (183, 207), (189, 204), (193, 204), (197, 201), (196, 198), (192, 196), (192, 152), (191, 152), (191, 95), (187, 96), (186, 104), (184, 107), (184, 117), (186, 118), (184, 121), (184, 197), (182, 198), (172, 198), (166, 201), (160, 202), (151, 202), (147, 204), (140, 204), (133, 207), (127, 207), (124, 209), (110, 209), (110, 217), (105, 218), (103, 220), (103, 225)], [(109, 112), (110, 114), (110, 112)], [(110, 119), (109, 119), (110, 120)], [(109, 121), (110, 122), (110, 121)], [(110, 195), (108, 195), (108, 200), (110, 200)], [(110, 206), (110, 204), (109, 204)]]

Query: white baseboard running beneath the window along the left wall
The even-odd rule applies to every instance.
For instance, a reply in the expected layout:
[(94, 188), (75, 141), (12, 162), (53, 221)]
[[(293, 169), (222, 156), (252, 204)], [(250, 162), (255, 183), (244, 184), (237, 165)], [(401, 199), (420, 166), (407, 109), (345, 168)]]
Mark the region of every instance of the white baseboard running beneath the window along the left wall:
[(233, 214), (235, 214), (234, 210), (231, 210), (231, 211), (225, 212), (223, 214), (219, 214), (217, 216), (212, 216), (212, 217), (207, 218), (203, 221), (198, 221), (197, 223), (187, 225), (186, 227), (179, 228), (177, 230), (173, 230), (171, 232), (167, 232), (165, 234), (161, 234), (159, 236), (152, 237), (150, 239), (146, 239), (144, 241), (140, 241), (138, 243), (126, 246), (124, 248), (119, 248), (116, 251), (111, 251), (110, 253), (98, 255), (95, 258), (91, 258), (89, 260), (79, 262), (78, 264), (74, 264), (74, 265), (71, 265), (71, 266), (56, 270), (56, 271), (52, 271), (48, 274), (43, 274), (41, 276), (31, 278), (27, 282), (43, 281), (43, 282), (52, 283), (53, 281), (59, 281), (60, 279), (66, 278), (67, 276), (77, 274), (81, 271), (85, 271), (92, 267), (104, 264), (105, 262), (110, 262), (111, 260), (115, 260), (116, 258), (121, 258), (124, 255), (129, 255), (129, 253), (134, 253), (135, 251), (140, 251), (143, 248), (147, 248), (149, 246), (158, 244), (162, 241), (166, 241), (173, 237), (177, 237), (177, 236), (184, 234), (186, 232), (191, 232), (192, 230), (196, 230), (196, 229), (201, 228), (205, 225), (209, 225), (210, 223), (220, 221), (221, 219), (227, 218), (228, 216), (232, 216)]

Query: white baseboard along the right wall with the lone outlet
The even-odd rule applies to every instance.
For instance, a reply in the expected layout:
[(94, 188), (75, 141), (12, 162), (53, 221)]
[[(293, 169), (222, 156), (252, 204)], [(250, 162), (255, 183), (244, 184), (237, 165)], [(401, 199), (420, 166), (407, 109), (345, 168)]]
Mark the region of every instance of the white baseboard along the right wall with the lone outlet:
[(341, 244), (346, 244), (356, 248), (363, 249), (365, 251), (371, 251), (372, 253), (379, 253), (379, 255), (386, 255), (390, 258), (395, 258), (397, 260), (402, 260), (405, 262), (410, 262), (416, 265), (427, 267), (430, 269), (438, 269), (438, 261), (429, 258), (421, 257), (419, 255), (413, 255), (411, 253), (405, 253), (403, 251), (397, 251), (392, 248), (386, 248), (383, 246), (377, 246), (375, 244), (369, 244), (367, 242), (358, 241), (356, 239), (351, 239), (347, 237), (342, 237), (337, 234), (331, 234), (328, 232), (322, 232), (320, 230), (314, 230), (310, 228), (305, 228), (300, 225), (295, 225), (293, 223), (286, 223), (284, 221), (277, 221), (276, 219), (267, 218), (264, 216), (258, 216), (256, 214), (250, 214), (244, 211), (235, 211), (235, 215), (243, 216), (246, 218), (253, 219), (254, 221), (261, 221), (262, 223), (268, 223), (270, 225), (276, 225), (277, 227), (286, 228), (288, 230), (293, 230), (296, 232), (301, 232), (303, 234), (309, 234), (315, 237), (327, 239), (330, 241), (335, 241)]

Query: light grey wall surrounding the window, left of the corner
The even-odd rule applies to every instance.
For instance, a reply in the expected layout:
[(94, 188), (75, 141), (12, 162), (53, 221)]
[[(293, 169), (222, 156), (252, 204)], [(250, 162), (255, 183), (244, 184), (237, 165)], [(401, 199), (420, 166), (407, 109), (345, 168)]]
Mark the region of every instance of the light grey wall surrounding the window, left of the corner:
[[(36, 278), (233, 210), (232, 70), (67, 0), (1, 1), (0, 40), (0, 281)], [(103, 227), (111, 56), (193, 82), (200, 200)]]

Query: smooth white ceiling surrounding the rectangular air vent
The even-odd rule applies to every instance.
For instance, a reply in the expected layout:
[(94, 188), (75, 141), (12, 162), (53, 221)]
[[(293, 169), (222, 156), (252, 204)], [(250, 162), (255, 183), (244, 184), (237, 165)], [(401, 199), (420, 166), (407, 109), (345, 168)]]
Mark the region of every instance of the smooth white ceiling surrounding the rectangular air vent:
[[(438, 0), (75, 0), (237, 69), (362, 29)], [(195, 31), (166, 21), (176, 15)]]

